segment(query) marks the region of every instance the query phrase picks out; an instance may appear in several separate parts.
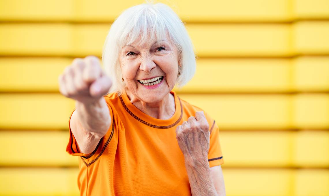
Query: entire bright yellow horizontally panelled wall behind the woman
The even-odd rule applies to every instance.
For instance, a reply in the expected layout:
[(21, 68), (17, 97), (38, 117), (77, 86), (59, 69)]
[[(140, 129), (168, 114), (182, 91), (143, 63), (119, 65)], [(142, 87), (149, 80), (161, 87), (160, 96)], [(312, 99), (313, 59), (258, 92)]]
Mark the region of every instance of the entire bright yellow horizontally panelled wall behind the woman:
[[(57, 77), (142, 2), (0, 1), (0, 195), (79, 195)], [(329, 195), (329, 1), (161, 2), (199, 57), (176, 90), (218, 123), (227, 195)]]

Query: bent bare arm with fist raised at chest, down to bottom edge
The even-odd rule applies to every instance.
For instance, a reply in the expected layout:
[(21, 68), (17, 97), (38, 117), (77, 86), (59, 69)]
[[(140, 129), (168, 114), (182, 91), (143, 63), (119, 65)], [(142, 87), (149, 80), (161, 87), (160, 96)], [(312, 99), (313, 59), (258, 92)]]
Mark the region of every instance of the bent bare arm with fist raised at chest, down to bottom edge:
[(203, 112), (196, 112), (195, 117), (191, 116), (176, 129), (193, 196), (226, 195), (221, 167), (209, 168), (209, 136), (209, 124)]

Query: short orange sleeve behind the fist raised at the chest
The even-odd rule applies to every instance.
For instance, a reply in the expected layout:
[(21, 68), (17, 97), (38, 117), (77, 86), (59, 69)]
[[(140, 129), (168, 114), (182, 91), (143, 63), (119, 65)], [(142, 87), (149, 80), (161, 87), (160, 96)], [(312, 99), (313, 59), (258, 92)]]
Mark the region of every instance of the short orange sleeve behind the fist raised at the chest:
[(224, 163), (224, 160), (219, 142), (219, 128), (215, 120), (209, 127), (209, 130), (211, 130), (211, 134), (208, 161), (209, 167), (213, 167), (217, 165), (222, 165)]

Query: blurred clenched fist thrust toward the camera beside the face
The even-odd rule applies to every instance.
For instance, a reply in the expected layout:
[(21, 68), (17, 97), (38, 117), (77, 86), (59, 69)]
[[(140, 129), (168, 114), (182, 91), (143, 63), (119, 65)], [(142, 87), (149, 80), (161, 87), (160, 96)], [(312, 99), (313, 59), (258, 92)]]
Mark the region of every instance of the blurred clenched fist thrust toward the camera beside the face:
[(68, 98), (88, 104), (107, 94), (112, 80), (103, 72), (97, 57), (76, 58), (58, 77), (60, 92)]

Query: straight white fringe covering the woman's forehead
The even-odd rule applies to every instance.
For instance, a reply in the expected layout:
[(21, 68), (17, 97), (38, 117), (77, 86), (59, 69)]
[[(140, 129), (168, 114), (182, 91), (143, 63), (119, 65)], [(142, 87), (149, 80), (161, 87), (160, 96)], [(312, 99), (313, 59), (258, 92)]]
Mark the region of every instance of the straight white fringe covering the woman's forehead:
[(126, 23), (119, 34), (119, 48), (130, 45), (134, 42), (141, 45), (156, 39), (160, 41), (171, 38), (168, 26), (161, 13), (155, 10), (144, 8), (138, 13), (129, 14), (130, 18), (126, 18)]

